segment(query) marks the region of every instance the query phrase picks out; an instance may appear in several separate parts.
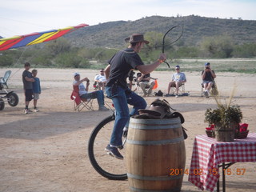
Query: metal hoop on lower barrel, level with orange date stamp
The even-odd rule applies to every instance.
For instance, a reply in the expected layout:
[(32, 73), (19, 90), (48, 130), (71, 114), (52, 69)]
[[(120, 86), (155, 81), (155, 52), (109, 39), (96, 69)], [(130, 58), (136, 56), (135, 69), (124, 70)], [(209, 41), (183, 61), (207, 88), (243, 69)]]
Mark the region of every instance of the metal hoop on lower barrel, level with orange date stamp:
[(178, 175), (170, 175), (170, 176), (159, 176), (159, 177), (151, 177), (151, 176), (141, 176), (141, 175), (136, 175), (136, 174), (129, 174), (127, 173), (128, 178), (134, 178), (134, 179), (139, 179), (143, 181), (169, 181), (169, 180), (174, 180), (178, 178), (182, 178), (182, 174)]

